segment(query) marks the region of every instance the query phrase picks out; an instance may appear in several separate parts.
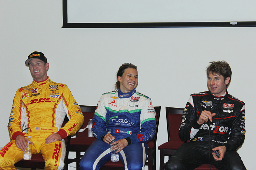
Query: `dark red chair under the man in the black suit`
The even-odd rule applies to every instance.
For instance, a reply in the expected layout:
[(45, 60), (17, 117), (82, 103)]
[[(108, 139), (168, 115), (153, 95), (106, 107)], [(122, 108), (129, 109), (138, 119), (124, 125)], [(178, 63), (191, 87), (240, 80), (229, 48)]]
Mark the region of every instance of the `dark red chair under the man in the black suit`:
[[(158, 147), (160, 150), (160, 168), (163, 170), (165, 167), (165, 156), (169, 158), (176, 152), (176, 150), (182, 145), (183, 142), (179, 137), (179, 128), (181, 125), (181, 118), (184, 108), (174, 108), (166, 107), (166, 121), (167, 121), (167, 133), (168, 133), (168, 142), (163, 143)], [(211, 165), (211, 168), (216, 168)], [(209, 164), (203, 164), (196, 168), (195, 170), (209, 170)]]

